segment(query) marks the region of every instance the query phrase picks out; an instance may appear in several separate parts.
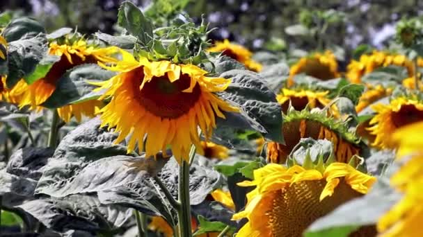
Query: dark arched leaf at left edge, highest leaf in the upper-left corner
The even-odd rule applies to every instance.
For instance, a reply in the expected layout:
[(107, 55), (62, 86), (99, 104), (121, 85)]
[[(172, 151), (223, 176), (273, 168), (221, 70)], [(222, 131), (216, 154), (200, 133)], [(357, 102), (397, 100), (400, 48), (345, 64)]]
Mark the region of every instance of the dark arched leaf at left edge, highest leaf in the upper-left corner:
[(13, 42), (22, 39), (22, 37), (35, 37), (40, 33), (45, 34), (46, 32), (45, 28), (38, 21), (28, 17), (19, 17), (10, 21), (1, 35), (7, 42)]

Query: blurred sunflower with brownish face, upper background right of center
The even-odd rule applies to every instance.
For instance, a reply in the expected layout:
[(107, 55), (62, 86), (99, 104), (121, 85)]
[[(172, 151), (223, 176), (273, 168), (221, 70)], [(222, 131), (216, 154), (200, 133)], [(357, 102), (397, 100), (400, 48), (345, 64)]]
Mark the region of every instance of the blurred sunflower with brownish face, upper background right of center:
[(306, 58), (301, 58), (291, 67), (289, 71), (288, 87), (294, 85), (294, 76), (305, 73), (305, 75), (320, 80), (330, 80), (340, 77), (338, 64), (335, 55), (331, 51), (314, 53)]

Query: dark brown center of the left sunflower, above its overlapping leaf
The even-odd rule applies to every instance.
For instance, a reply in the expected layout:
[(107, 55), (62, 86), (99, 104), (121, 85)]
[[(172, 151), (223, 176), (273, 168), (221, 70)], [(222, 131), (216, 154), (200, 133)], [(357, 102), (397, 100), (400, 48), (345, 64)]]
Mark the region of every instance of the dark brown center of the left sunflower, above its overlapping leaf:
[(53, 64), (50, 71), (44, 77), (44, 80), (47, 83), (56, 85), (56, 82), (61, 78), (61, 76), (63, 76), (67, 70), (72, 69), (72, 67), (84, 63), (97, 63), (97, 59), (93, 55), (86, 56), (85, 60), (82, 60), (82, 58), (79, 58), (79, 56), (74, 53), (71, 53), (70, 56), (72, 58), (72, 63), (69, 62), (66, 55), (63, 54), (61, 59)]

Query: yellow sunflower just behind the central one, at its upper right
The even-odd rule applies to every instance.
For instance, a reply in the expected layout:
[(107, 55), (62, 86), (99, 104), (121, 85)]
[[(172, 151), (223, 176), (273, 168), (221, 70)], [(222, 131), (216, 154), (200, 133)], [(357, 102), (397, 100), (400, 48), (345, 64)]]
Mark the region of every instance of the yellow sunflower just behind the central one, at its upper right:
[(251, 55), (253, 55), (253, 53), (251, 53), (244, 46), (231, 43), (229, 40), (216, 42), (216, 44), (213, 47), (207, 49), (207, 51), (222, 52), (223, 55), (243, 63), (251, 71), (262, 71), (262, 64), (251, 59)]

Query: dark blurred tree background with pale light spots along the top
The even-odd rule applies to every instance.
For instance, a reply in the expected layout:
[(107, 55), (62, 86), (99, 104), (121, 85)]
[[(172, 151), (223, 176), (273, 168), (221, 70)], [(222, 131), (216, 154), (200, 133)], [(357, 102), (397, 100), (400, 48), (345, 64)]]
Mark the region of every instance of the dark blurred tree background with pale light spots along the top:
[[(420, 10), (423, 1), (419, 0), (185, 1), (188, 2), (185, 10), (195, 21), (200, 22), (204, 14), (210, 27), (218, 28), (209, 35), (212, 40), (228, 38), (254, 51), (310, 50), (337, 45), (348, 52), (359, 44), (381, 48), (394, 35), (396, 21), (423, 12)], [(2, 0), (0, 11), (13, 10), (16, 15), (35, 17), (49, 31), (77, 26), (81, 33), (100, 30), (113, 34), (121, 2)], [(140, 8), (147, 8), (150, 4), (149, 0), (132, 2)], [(320, 20), (322, 15), (324, 21)]]

